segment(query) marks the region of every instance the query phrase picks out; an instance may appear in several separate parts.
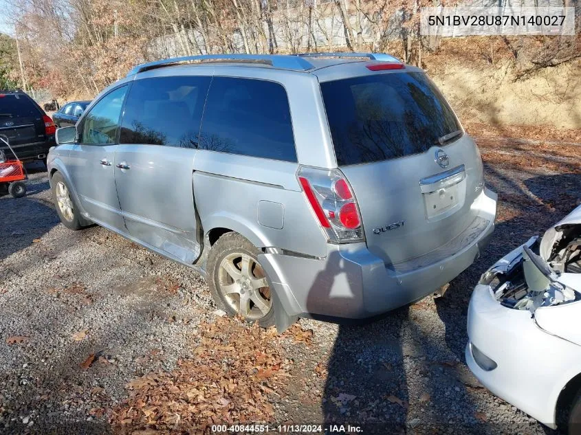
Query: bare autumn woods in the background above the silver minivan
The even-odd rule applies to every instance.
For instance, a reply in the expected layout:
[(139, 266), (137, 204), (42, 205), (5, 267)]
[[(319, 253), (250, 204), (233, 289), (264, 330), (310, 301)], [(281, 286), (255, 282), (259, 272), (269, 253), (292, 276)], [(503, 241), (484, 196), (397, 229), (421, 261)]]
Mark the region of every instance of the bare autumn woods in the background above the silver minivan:
[[(0, 87), (46, 89), (46, 98), (92, 98), (135, 64), (207, 53), (388, 52), (422, 67), (441, 53), (459, 63), (463, 56), (490, 64), (506, 58), (516, 79), (581, 56), (579, 32), (446, 44), (420, 36), (419, 8), (440, 0), (8, 1), (14, 34), (0, 35)], [(579, 12), (578, 1), (530, 0)]]

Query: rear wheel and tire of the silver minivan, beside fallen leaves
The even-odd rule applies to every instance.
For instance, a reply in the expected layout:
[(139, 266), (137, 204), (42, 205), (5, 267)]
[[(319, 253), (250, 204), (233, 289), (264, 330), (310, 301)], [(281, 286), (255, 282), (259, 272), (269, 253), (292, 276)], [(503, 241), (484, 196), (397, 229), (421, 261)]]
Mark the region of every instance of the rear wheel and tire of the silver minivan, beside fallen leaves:
[[(240, 234), (224, 234), (208, 255), (208, 285), (217, 306), (228, 315), (241, 315), (247, 322), (259, 322), (268, 328), (276, 323), (275, 298), (258, 261), (259, 253)], [(241, 298), (248, 304), (241, 304)]]

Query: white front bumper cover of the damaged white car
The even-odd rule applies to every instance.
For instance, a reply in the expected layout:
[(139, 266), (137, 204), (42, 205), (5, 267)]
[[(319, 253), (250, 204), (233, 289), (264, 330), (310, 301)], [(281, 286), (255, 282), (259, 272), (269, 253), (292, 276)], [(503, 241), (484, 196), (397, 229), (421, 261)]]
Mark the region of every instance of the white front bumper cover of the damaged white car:
[(466, 362), (491, 392), (555, 428), (559, 394), (581, 372), (581, 346), (547, 333), (531, 316), (501, 305), (490, 286), (477, 285), (468, 308)]

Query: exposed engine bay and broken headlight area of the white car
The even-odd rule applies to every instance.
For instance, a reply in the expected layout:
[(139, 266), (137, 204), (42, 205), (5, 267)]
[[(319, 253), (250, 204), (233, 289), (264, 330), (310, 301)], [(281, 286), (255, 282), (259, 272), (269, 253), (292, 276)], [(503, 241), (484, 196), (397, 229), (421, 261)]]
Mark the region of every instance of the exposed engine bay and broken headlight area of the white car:
[(564, 221), (505, 256), (479, 284), (503, 306), (531, 313), (581, 300), (581, 224)]

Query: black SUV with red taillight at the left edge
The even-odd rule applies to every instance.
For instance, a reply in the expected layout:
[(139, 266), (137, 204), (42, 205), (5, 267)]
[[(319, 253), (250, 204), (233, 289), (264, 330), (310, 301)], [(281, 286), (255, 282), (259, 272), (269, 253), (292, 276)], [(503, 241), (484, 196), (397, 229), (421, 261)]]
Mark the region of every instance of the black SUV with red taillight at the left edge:
[[(0, 135), (6, 135), (22, 161), (46, 161), (54, 146), (56, 126), (49, 116), (23, 91), (0, 91)], [(0, 143), (0, 145), (2, 145)], [(8, 147), (0, 146), (8, 155)]]

